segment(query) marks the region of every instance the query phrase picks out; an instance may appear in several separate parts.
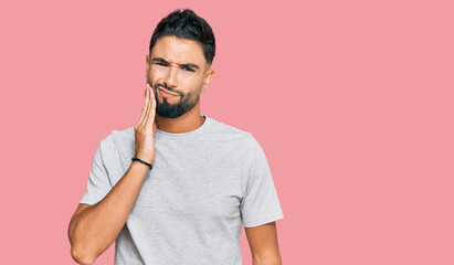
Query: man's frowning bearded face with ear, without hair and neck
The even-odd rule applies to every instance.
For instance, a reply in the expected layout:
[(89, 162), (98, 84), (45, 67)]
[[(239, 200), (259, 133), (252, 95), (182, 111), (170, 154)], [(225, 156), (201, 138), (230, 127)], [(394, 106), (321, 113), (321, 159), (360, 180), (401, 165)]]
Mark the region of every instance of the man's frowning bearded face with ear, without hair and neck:
[[(155, 92), (156, 114), (177, 118), (191, 110), (212, 78), (214, 71), (209, 67), (198, 42), (159, 38), (147, 56), (147, 82)], [(176, 95), (165, 97), (161, 89)]]

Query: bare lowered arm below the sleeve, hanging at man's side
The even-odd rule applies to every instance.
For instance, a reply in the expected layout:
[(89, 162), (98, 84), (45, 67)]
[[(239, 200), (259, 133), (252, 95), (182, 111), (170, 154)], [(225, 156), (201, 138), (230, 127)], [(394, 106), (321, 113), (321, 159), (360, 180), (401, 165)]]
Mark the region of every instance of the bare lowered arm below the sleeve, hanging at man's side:
[(254, 265), (282, 265), (276, 222), (244, 227)]

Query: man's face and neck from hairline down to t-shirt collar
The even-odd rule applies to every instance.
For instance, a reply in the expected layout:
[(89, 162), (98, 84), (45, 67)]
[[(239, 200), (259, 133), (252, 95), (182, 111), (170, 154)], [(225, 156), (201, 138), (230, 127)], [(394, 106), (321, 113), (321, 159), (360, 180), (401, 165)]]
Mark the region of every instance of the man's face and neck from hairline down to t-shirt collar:
[[(161, 36), (151, 54), (146, 55), (146, 61), (147, 83), (156, 96), (157, 127), (172, 134), (199, 128), (204, 123), (200, 115), (200, 93), (208, 88), (214, 75), (202, 46), (192, 40)], [(183, 64), (197, 65), (198, 68)], [(165, 98), (158, 89), (161, 87), (178, 96)]]

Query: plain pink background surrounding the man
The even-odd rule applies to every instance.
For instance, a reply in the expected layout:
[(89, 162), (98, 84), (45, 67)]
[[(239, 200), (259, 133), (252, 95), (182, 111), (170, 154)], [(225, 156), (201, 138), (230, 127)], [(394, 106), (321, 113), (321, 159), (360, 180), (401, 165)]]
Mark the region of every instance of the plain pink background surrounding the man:
[(75, 264), (94, 152), (139, 118), (176, 8), (214, 30), (202, 114), (265, 150), (284, 264), (454, 264), (452, 1), (1, 3), (1, 264)]

